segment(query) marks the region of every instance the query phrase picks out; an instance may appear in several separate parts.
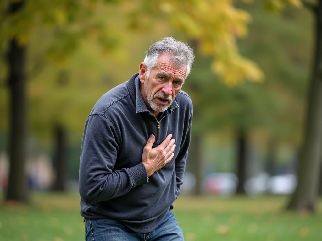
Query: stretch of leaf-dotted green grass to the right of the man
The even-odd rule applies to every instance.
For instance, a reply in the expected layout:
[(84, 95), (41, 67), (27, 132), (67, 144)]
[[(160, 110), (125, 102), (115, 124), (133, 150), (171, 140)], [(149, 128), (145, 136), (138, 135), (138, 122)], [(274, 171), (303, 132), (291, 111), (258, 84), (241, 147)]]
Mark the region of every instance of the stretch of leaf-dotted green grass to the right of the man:
[(272, 196), (182, 198), (175, 214), (186, 241), (321, 241), (322, 213), (285, 212), (285, 203)]

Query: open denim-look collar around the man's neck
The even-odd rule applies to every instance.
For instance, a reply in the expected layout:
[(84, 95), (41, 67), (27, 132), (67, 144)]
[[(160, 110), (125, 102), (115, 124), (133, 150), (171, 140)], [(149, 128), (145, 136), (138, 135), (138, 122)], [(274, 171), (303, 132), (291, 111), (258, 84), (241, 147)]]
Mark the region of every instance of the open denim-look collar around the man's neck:
[[(135, 104), (135, 113), (149, 112), (147, 106), (144, 103), (140, 92), (139, 86), (139, 74), (134, 74), (128, 81), (128, 91), (133, 103)], [(178, 103), (174, 100), (172, 104), (166, 109), (164, 114), (168, 115), (174, 112), (174, 109), (179, 108)], [(164, 116), (161, 112), (160, 116)]]

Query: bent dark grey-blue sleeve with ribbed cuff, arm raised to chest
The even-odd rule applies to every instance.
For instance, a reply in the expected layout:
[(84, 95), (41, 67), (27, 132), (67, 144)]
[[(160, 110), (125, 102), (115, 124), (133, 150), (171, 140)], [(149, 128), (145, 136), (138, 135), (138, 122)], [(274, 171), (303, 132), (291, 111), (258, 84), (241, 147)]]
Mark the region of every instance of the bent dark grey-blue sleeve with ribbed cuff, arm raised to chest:
[(100, 114), (87, 118), (79, 172), (79, 192), (84, 202), (91, 204), (120, 197), (148, 182), (143, 163), (113, 170), (120, 147), (120, 133), (109, 119)]

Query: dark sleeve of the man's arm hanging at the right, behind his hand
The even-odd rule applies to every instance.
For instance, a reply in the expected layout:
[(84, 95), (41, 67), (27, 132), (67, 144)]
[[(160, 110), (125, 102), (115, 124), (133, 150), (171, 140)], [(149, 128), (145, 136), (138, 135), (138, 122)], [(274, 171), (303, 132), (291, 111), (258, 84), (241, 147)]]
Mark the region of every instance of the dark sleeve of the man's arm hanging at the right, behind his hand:
[(192, 116), (193, 116), (193, 110), (192, 110), (192, 104), (191, 104), (191, 111), (189, 113), (189, 119), (187, 121), (187, 125), (185, 128), (184, 136), (182, 138), (180, 150), (178, 153), (177, 158), (175, 159), (175, 176), (176, 176), (176, 198), (180, 194), (180, 186), (183, 183), (183, 174), (185, 172), (185, 165), (186, 160), (188, 157), (188, 148), (190, 145), (190, 138), (191, 138), (191, 125), (192, 125)]

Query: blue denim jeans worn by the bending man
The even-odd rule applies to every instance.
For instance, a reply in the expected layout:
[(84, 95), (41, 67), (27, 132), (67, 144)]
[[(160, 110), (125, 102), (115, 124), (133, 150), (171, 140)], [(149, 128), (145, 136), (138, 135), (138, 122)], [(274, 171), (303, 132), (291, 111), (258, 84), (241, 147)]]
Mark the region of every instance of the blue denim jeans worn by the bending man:
[(86, 219), (86, 241), (183, 241), (183, 233), (169, 211), (152, 232), (136, 233), (114, 219)]

